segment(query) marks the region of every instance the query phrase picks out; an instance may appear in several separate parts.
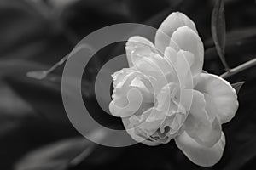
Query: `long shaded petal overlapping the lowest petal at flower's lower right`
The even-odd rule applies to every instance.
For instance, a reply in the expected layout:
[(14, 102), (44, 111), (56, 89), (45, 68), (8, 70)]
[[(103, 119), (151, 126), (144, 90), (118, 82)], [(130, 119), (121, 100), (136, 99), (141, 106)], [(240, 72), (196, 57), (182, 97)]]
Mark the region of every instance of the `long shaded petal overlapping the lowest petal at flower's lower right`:
[(182, 95), (189, 99), (191, 94), (193, 96), (191, 107), (189, 108), (189, 105), (183, 103), (184, 107), (189, 111), (189, 116), (184, 122), (184, 130), (197, 143), (212, 147), (221, 136), (220, 123), (217, 117), (211, 120), (207, 115), (206, 101), (203, 94), (195, 90), (186, 89), (183, 90)]

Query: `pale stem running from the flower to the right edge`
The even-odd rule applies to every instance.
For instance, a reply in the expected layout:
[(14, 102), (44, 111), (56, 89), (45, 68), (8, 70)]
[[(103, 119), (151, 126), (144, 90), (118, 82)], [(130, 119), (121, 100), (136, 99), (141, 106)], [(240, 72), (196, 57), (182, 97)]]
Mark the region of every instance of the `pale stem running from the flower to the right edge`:
[(252, 60), (249, 60), (249, 61), (247, 61), (246, 63), (244, 63), (242, 65), (238, 65), (235, 68), (230, 69), (230, 71), (224, 72), (224, 74), (220, 75), (220, 77), (223, 77), (223, 78), (231, 77), (231, 76), (233, 76), (233, 75), (235, 75), (235, 74), (237, 74), (241, 71), (244, 71), (244, 70), (252, 67), (253, 65), (256, 65), (256, 58), (252, 59)]

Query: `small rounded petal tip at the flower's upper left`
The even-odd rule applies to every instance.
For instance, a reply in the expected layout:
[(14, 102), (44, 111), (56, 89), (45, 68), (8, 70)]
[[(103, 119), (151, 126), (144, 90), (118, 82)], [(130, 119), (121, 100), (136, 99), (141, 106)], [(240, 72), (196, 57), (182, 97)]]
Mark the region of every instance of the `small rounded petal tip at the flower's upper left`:
[(131, 53), (137, 51), (137, 54), (150, 54), (154, 50), (154, 44), (144, 37), (130, 37), (125, 45), (126, 56), (129, 66), (133, 66), (131, 63)]

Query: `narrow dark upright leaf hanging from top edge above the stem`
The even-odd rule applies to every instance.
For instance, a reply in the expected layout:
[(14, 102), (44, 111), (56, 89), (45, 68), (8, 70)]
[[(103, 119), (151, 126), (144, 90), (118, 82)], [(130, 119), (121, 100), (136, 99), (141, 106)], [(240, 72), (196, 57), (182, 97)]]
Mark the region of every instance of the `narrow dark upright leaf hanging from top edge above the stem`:
[(225, 40), (226, 40), (226, 25), (224, 14), (224, 0), (217, 0), (212, 10), (212, 39), (216, 46), (218, 55), (226, 70), (230, 70), (229, 65), (225, 61)]

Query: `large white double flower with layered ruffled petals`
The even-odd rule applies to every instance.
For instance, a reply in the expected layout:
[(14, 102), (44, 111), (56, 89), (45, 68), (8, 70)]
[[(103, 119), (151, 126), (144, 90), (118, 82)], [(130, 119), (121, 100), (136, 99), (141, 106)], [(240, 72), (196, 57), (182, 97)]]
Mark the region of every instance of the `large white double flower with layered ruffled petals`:
[(125, 50), (129, 68), (113, 74), (113, 116), (137, 142), (174, 139), (195, 164), (217, 163), (225, 145), (221, 125), (235, 116), (238, 101), (229, 82), (202, 71), (204, 48), (194, 22), (172, 13), (154, 44), (131, 37)]

